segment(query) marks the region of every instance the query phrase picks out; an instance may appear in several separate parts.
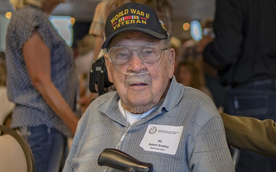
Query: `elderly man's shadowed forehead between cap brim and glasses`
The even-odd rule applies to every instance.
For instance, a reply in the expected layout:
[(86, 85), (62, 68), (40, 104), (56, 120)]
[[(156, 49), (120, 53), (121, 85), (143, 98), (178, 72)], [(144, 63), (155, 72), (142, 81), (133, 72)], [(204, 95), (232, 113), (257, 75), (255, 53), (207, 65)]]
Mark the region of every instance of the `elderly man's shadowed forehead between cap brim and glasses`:
[(139, 41), (143, 41), (144, 44), (159, 45), (162, 40), (140, 31), (125, 31), (117, 34), (110, 41), (110, 44), (108, 47), (111, 48), (114, 46), (122, 45), (123, 42), (132, 42), (133, 44), (135, 44), (136, 42), (139, 42)]

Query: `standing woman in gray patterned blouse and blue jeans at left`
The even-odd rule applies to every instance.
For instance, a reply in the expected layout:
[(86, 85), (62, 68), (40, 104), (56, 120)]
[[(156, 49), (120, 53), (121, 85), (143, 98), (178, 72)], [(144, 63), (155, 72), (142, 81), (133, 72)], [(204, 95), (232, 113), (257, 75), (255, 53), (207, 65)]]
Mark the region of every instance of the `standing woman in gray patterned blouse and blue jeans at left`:
[(16, 11), (6, 38), (12, 127), (28, 141), (35, 169), (59, 171), (67, 137), (76, 131), (77, 78), (72, 50), (49, 22), (63, 0), (11, 0)]

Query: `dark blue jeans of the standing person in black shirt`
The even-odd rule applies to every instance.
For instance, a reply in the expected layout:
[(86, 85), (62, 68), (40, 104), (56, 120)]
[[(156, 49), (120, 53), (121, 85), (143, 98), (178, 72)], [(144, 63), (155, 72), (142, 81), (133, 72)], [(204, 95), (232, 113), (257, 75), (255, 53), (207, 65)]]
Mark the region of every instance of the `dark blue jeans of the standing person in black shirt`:
[[(252, 81), (228, 86), (224, 96), (225, 113), (276, 121), (276, 80)], [(233, 124), (234, 125), (234, 124)], [(237, 172), (274, 172), (276, 159), (241, 150)]]

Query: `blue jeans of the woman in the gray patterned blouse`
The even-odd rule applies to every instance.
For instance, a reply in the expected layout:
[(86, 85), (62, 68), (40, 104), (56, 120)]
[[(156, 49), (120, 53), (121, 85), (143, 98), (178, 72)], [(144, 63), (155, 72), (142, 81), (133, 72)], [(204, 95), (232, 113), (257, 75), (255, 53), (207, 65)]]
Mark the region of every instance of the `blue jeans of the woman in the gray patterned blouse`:
[(20, 127), (20, 133), (31, 147), (36, 172), (59, 172), (68, 154), (67, 138), (56, 129), (39, 125)]

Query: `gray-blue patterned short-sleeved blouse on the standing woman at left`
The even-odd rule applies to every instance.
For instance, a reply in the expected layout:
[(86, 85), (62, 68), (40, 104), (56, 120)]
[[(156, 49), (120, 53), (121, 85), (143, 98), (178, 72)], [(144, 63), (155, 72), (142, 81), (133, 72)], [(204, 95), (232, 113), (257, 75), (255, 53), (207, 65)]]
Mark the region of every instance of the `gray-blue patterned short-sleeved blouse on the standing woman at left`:
[(6, 38), (8, 98), (16, 104), (12, 114), (12, 127), (46, 125), (66, 136), (72, 136), (69, 127), (55, 114), (32, 85), (26, 68), (22, 48), (35, 29), (51, 51), (53, 84), (72, 111), (76, 109), (78, 81), (72, 50), (53, 28), (46, 12), (39, 7), (26, 5), (13, 13)]

